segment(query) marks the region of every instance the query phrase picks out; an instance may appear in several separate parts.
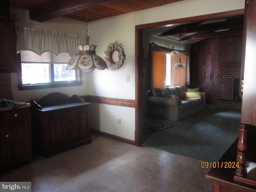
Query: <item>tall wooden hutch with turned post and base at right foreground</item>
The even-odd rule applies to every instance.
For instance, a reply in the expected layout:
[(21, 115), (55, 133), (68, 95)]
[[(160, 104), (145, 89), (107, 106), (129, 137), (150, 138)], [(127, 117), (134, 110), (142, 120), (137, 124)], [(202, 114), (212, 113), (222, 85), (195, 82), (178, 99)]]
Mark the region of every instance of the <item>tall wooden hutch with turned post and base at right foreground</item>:
[[(256, 192), (256, 1), (245, 0), (241, 77), (242, 111), (238, 140), (220, 161), (239, 162), (234, 169), (212, 169), (206, 178), (214, 192)], [(225, 157), (225, 158), (224, 158)], [(252, 168), (247, 169), (252, 166)]]

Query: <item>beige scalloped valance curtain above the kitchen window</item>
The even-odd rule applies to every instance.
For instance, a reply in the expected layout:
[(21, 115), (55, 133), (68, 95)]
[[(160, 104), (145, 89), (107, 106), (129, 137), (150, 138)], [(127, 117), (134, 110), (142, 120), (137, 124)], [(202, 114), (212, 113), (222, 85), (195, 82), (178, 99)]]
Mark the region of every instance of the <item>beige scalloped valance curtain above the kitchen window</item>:
[(17, 53), (29, 50), (38, 55), (51, 52), (58, 56), (61, 52), (67, 52), (72, 57), (78, 54), (77, 45), (85, 42), (83, 35), (16, 26)]

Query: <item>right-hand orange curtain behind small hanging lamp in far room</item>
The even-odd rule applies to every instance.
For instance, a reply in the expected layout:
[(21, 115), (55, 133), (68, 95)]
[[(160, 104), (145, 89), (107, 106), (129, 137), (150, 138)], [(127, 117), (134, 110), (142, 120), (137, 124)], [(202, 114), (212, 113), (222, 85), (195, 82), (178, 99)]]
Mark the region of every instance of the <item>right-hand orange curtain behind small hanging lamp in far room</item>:
[[(174, 64), (179, 60), (179, 58), (186, 64), (186, 68), (174, 68)], [(187, 64), (188, 56), (171, 54), (171, 87), (186, 84)]]

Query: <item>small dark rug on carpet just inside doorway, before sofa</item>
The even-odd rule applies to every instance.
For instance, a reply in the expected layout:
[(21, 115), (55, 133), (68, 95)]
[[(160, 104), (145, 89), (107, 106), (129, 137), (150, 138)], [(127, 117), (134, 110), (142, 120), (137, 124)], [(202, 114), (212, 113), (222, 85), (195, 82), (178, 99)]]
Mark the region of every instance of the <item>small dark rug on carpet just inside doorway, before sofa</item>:
[(152, 134), (157, 131), (168, 129), (173, 127), (171, 124), (166, 124), (162, 122), (154, 121), (144, 121), (143, 122), (143, 135)]

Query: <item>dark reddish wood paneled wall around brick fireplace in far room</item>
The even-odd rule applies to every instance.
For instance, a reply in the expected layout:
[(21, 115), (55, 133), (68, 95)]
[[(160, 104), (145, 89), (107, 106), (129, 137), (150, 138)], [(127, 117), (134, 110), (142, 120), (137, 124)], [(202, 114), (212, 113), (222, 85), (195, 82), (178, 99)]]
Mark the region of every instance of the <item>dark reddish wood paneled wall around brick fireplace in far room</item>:
[(220, 69), (241, 66), (242, 36), (205, 39), (190, 47), (190, 87), (206, 92), (206, 103), (216, 104)]

